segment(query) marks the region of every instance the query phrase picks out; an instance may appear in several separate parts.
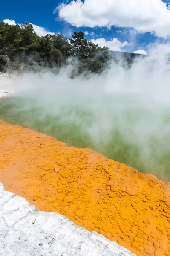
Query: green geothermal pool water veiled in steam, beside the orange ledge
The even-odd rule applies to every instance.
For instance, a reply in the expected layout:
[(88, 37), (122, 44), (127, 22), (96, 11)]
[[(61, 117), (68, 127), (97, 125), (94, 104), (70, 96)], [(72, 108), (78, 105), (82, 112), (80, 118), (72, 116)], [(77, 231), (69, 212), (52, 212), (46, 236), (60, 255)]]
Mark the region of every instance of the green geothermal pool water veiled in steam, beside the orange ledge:
[(0, 119), (170, 180), (168, 105), (126, 93), (61, 98), (22, 95), (1, 99)]

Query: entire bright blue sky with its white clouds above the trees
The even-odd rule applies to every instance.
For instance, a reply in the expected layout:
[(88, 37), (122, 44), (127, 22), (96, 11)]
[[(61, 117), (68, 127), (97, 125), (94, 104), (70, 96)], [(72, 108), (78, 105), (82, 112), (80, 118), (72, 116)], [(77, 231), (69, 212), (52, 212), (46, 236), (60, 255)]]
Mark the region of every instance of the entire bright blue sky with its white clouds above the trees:
[(19, 24), (29, 21), (37, 25), (34, 28), (39, 35), (61, 32), (70, 38), (72, 32), (81, 30), (88, 33), (88, 40), (101, 47), (148, 52), (154, 42), (169, 40), (168, 3), (168, 0), (9, 0), (0, 5), (0, 20)]

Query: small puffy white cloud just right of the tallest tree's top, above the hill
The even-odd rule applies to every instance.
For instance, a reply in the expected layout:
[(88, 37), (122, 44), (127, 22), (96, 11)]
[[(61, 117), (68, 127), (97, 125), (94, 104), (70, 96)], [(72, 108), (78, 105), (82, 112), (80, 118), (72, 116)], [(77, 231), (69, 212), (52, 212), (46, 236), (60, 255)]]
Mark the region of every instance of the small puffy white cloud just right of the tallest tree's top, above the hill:
[(112, 51), (122, 51), (122, 48), (129, 45), (128, 42), (119, 41), (117, 38), (111, 39), (111, 41), (107, 41), (105, 38), (92, 39), (91, 42), (93, 44), (98, 44), (99, 47), (109, 47)]

